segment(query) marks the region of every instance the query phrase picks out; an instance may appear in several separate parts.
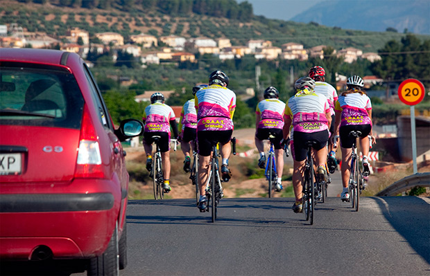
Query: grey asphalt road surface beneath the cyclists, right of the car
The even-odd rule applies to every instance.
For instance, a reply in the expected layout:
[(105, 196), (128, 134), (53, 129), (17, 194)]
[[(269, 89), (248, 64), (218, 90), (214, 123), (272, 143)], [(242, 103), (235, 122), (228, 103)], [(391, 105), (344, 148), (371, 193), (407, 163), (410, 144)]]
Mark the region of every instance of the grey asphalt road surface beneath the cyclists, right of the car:
[(135, 275), (429, 275), (430, 199), (331, 197), (313, 226), (293, 199), (223, 199), (218, 220), (192, 199), (130, 201)]

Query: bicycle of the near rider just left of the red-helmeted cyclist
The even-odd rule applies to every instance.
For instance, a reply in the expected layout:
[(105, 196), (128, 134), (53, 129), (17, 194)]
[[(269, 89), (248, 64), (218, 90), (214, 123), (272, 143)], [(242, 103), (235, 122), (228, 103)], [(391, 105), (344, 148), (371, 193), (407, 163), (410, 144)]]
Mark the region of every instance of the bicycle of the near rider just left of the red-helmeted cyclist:
[(316, 197), (315, 186), (313, 180), (315, 179), (315, 170), (313, 167), (312, 158), (312, 145), (316, 144), (315, 141), (307, 141), (307, 156), (304, 164), (304, 183), (302, 187), (302, 204), (304, 209), (304, 217), (311, 225), (313, 225), (313, 211), (315, 210)]

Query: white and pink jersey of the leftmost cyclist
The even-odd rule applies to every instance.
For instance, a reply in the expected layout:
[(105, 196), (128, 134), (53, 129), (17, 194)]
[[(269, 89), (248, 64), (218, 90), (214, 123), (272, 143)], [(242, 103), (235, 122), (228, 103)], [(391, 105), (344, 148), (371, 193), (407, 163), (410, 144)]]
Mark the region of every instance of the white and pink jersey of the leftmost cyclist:
[[(145, 123), (145, 132), (167, 132), (170, 134), (170, 122), (175, 121), (175, 113), (167, 104), (155, 102), (148, 105), (142, 120)], [(176, 122), (175, 122), (176, 124)], [(176, 127), (176, 125), (175, 125)], [(173, 129), (174, 131), (174, 129)], [(176, 134), (175, 134), (176, 135)]]

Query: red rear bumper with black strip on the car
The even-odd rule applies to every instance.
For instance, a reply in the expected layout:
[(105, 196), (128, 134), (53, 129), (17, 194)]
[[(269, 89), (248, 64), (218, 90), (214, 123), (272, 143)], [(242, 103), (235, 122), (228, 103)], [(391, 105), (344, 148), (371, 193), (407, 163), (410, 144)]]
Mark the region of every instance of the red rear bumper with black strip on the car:
[(48, 247), (54, 259), (104, 252), (124, 197), (119, 183), (77, 179), (41, 184), (37, 194), (31, 192), (29, 185), (1, 185), (1, 259), (31, 259), (40, 246)]

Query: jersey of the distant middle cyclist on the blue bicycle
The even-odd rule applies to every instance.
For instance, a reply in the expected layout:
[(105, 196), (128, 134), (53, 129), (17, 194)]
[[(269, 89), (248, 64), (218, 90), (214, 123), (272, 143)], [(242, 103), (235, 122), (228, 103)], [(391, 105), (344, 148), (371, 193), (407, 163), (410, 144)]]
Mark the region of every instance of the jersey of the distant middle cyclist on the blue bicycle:
[(278, 99), (265, 99), (257, 104), (256, 114), (260, 121), (258, 129), (282, 129), (284, 127), (285, 103)]

